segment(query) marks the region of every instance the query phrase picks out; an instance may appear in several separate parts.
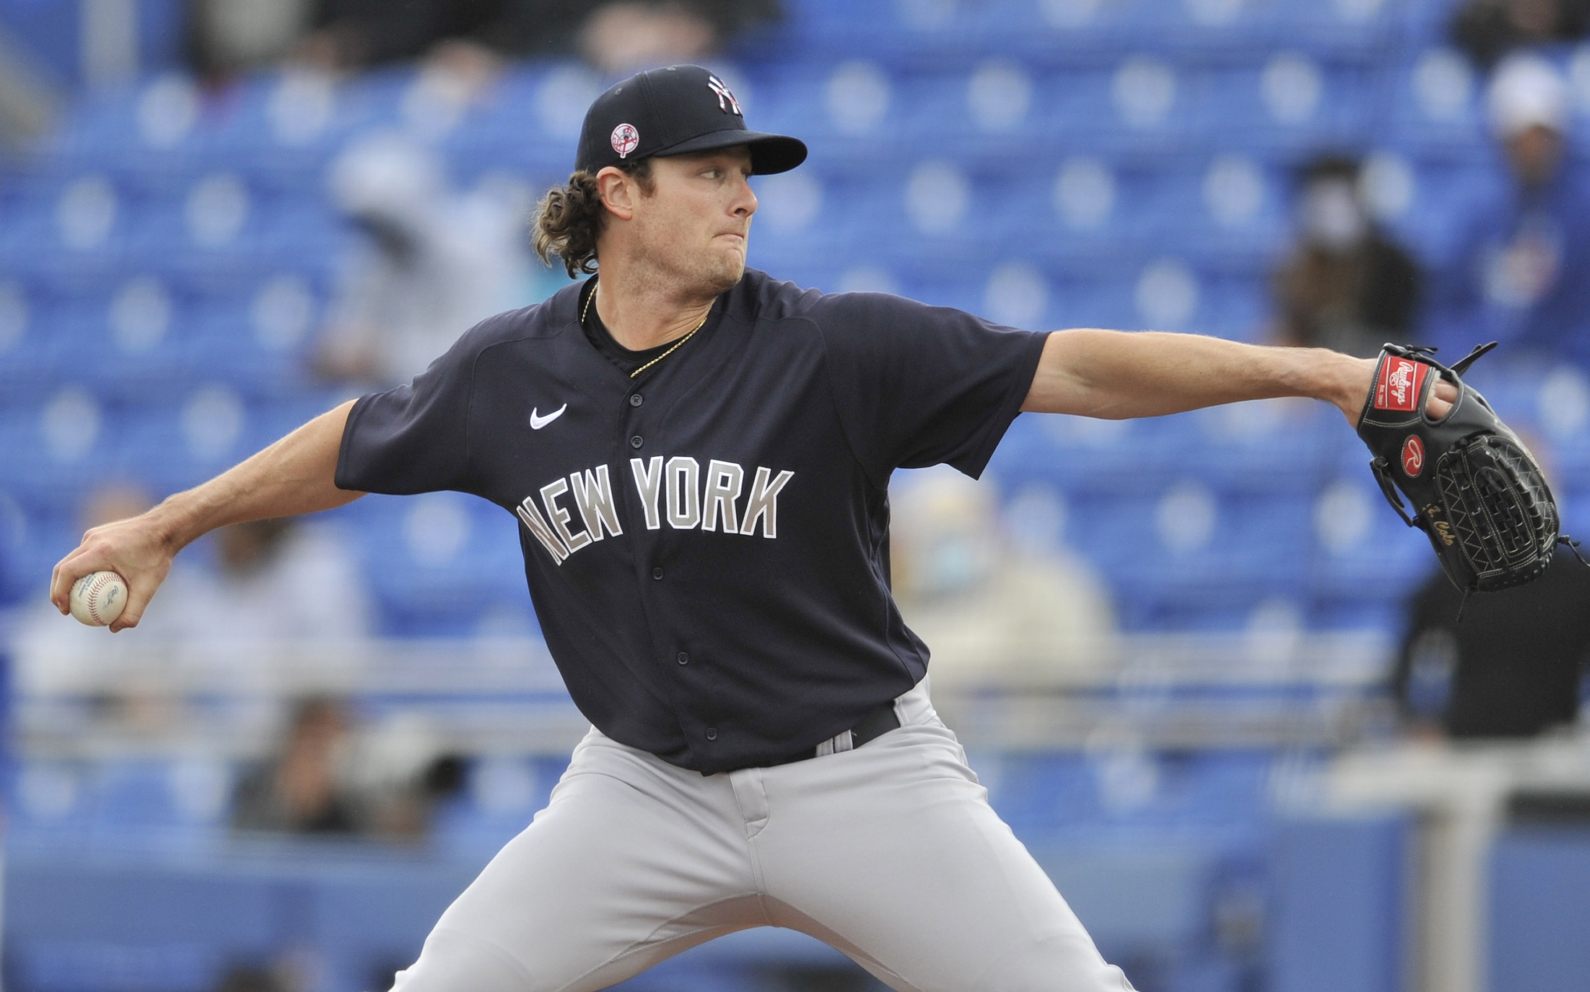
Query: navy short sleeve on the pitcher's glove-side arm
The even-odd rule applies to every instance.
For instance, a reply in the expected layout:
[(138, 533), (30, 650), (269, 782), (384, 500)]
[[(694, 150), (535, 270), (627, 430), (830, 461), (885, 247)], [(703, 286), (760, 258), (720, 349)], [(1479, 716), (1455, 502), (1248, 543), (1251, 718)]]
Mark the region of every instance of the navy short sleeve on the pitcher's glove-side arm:
[(1032, 388), (1048, 334), (881, 293), (809, 312), (840, 421), (868, 475), (949, 464), (976, 479)]

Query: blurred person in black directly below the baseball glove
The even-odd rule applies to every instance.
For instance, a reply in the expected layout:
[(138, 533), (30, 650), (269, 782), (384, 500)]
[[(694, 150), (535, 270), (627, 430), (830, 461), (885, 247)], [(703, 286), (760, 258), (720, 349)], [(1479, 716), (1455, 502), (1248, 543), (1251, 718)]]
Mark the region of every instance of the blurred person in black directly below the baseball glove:
[(1530, 585), (1471, 596), (1445, 574), (1409, 604), (1393, 685), (1409, 722), (1452, 738), (1528, 738), (1573, 723), (1590, 660), (1590, 569), (1560, 548)]

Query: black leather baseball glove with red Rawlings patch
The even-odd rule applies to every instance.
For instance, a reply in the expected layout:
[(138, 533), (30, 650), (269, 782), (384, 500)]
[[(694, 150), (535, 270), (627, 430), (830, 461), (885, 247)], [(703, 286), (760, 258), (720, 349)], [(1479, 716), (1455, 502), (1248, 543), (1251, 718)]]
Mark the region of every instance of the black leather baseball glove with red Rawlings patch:
[[(1480, 345), (1448, 369), (1431, 358), (1434, 348), (1386, 345), (1358, 421), (1380, 491), (1409, 526), (1429, 536), (1441, 568), (1466, 595), (1523, 585), (1552, 563), (1557, 542), (1573, 545), (1558, 536), (1557, 502), (1541, 466), (1461, 378), (1495, 347)], [(1442, 378), (1456, 386), (1458, 399), (1431, 420), (1425, 401)]]

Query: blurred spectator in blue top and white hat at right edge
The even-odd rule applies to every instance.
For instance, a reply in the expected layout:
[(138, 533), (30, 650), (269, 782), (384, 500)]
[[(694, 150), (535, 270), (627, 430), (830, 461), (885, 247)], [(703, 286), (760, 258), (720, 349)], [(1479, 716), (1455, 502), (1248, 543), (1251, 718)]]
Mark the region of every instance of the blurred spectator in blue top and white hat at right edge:
[(1568, 99), (1538, 56), (1496, 68), (1488, 114), (1510, 183), (1472, 205), (1442, 280), (1436, 337), (1456, 355), (1495, 339), (1509, 356), (1590, 362), (1590, 191), (1563, 167)]

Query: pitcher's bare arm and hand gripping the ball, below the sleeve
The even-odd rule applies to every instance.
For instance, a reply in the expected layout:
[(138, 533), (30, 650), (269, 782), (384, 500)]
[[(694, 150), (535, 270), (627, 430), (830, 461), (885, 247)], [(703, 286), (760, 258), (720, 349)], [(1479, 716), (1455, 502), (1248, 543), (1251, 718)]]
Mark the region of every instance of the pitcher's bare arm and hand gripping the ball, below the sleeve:
[(176, 552), (215, 528), (245, 520), (293, 517), (353, 502), (364, 493), (339, 490), (337, 453), (353, 401), (321, 413), (264, 451), (210, 482), (167, 498), (130, 520), (97, 526), (56, 564), (49, 599), (68, 610), (72, 583), (102, 569), (127, 580), (127, 606), (111, 631), (137, 626)]

